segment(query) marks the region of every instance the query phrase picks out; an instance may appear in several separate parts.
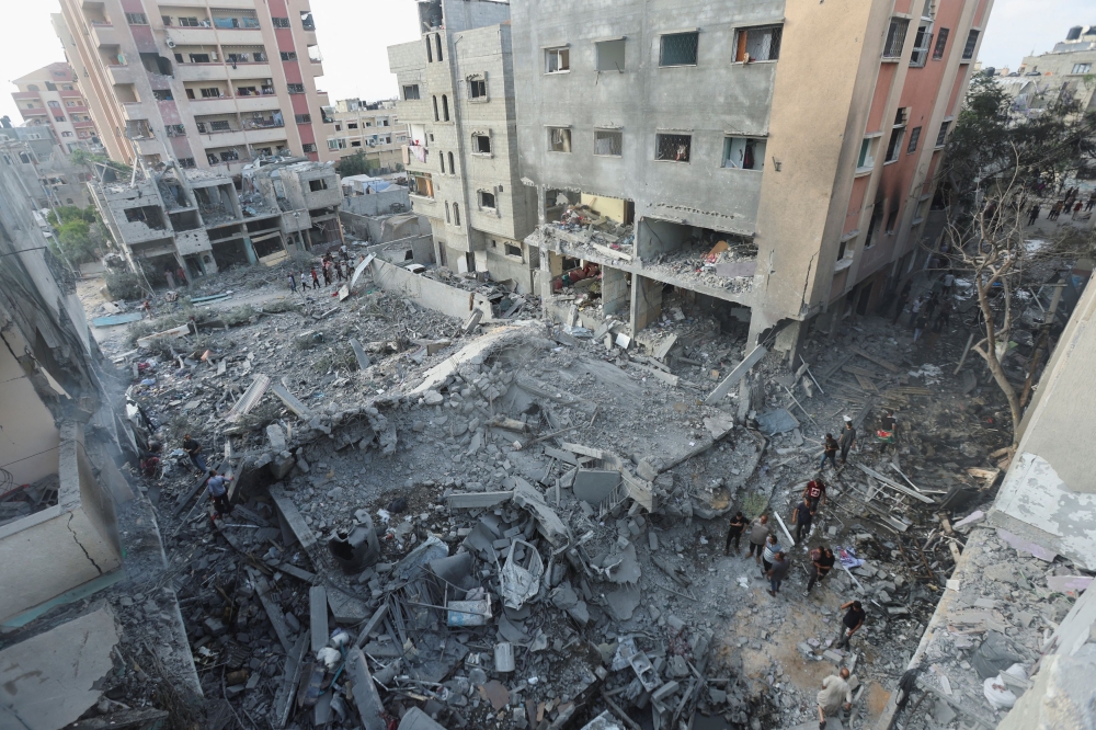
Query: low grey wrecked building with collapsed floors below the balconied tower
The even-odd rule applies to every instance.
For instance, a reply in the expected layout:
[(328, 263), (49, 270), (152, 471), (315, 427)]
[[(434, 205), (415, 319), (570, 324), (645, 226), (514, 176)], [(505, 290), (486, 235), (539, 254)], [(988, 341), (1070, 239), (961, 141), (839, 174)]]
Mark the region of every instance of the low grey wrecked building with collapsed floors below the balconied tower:
[(233, 265), (273, 265), (292, 251), (342, 242), (342, 191), (330, 163), (263, 160), (238, 190), (228, 175), (168, 167), (92, 183), (95, 205), (135, 271), (187, 281)]

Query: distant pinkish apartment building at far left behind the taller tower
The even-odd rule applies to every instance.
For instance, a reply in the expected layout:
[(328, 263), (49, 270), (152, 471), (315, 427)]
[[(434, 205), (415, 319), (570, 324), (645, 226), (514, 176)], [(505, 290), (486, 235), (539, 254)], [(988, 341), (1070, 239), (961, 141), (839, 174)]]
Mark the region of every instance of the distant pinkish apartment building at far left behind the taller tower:
[(68, 64), (50, 64), (12, 81), (12, 99), (27, 126), (47, 126), (66, 152), (100, 149), (88, 102)]

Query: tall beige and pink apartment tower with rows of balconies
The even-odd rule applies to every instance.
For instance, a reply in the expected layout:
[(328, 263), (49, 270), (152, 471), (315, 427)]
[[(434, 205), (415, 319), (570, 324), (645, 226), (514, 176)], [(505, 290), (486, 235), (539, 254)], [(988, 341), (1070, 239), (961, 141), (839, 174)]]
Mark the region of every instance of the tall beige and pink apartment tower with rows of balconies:
[(62, 0), (54, 26), (113, 159), (230, 175), (281, 152), (329, 159), (307, 0)]

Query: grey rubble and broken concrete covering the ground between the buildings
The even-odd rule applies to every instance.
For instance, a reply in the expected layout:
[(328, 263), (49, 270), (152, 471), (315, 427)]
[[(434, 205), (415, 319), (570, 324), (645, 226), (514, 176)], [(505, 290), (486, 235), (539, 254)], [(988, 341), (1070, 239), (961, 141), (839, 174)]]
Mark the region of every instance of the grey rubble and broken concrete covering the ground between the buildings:
[[(817, 725), (837, 666), (846, 727), (870, 727), (950, 577), (945, 521), (991, 498), (1009, 443), (984, 366), (952, 375), (959, 318), (932, 349), (847, 318), (811, 334), (809, 370), (770, 353), (706, 406), (745, 332), (684, 299), (653, 357), (539, 319), (466, 332), (368, 282), (344, 301), (294, 298), (276, 271), (205, 286), (255, 294), (157, 303), (130, 335), (194, 328), (146, 346), (101, 338), (162, 445), (139, 480), (203, 692), (228, 703), (202, 727), (372, 730), (413, 707), (444, 728), (794, 727)], [(883, 408), (899, 437), (880, 455)], [(845, 414), (858, 446), (794, 545), (780, 520), (795, 531)], [(216, 521), (186, 433), (233, 476)], [(747, 536), (724, 555), (739, 510), (773, 515), (791, 556), (775, 597)], [(822, 544), (852, 572), (806, 597)], [(853, 598), (868, 618), (841, 650)]]

